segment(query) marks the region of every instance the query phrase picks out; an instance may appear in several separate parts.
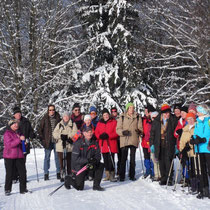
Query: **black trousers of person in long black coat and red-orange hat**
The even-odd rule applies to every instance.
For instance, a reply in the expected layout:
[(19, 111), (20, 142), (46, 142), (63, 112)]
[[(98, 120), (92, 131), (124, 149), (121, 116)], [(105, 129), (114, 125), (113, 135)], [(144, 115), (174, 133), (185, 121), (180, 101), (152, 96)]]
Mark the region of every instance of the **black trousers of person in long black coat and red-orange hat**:
[[(166, 152), (166, 148), (161, 147), (160, 157), (159, 157), (161, 182), (167, 182), (172, 161), (173, 161), (173, 158), (169, 157), (169, 155)], [(170, 181), (173, 180), (173, 173), (171, 173), (169, 180)]]

